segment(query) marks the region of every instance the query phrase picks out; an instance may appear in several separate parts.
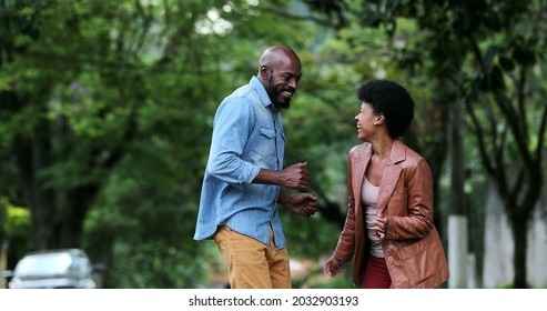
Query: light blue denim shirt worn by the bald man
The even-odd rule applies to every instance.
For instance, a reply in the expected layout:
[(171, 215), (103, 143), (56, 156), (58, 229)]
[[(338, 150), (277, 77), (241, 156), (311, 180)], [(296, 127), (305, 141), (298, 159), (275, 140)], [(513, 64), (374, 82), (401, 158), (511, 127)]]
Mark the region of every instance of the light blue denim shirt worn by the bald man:
[(251, 183), (261, 168), (282, 170), (284, 146), (281, 112), (256, 77), (221, 102), (194, 240), (212, 239), (225, 224), (269, 245), (272, 225), (276, 249), (285, 247), (276, 208), (280, 187)]

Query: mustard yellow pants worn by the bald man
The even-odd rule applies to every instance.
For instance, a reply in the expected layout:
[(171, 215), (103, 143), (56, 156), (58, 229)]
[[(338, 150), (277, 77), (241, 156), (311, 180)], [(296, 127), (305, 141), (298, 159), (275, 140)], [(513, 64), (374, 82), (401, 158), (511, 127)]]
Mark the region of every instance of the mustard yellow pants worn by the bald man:
[(219, 227), (213, 239), (226, 262), (232, 289), (292, 288), (288, 252), (275, 249), (271, 228), (270, 237), (270, 245), (265, 245), (226, 225)]

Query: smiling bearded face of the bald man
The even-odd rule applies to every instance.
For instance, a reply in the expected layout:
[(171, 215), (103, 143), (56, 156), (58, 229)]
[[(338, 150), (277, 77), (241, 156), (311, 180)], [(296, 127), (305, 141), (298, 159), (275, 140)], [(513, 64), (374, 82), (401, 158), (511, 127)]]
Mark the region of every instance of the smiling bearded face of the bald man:
[(288, 109), (291, 99), (296, 92), (302, 77), (300, 62), (291, 62), (278, 68), (270, 68), (266, 92), (273, 104), (280, 109)]

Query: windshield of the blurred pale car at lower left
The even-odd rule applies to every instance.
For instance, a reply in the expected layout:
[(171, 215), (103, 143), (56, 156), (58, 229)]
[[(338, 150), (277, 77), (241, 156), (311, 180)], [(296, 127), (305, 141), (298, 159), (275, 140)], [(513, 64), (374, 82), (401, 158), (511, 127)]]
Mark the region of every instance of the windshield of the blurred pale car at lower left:
[(71, 264), (69, 253), (42, 253), (23, 258), (16, 267), (19, 277), (45, 277), (65, 274)]

